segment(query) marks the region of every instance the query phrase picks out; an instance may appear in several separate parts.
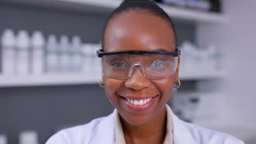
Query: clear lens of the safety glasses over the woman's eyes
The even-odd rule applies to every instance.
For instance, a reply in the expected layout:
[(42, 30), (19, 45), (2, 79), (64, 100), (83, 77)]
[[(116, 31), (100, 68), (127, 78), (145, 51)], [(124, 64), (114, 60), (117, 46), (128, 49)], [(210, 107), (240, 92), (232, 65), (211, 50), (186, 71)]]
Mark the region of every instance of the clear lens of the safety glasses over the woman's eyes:
[(126, 80), (139, 67), (149, 80), (172, 76), (178, 57), (172, 55), (107, 55), (102, 57), (102, 72), (106, 77)]

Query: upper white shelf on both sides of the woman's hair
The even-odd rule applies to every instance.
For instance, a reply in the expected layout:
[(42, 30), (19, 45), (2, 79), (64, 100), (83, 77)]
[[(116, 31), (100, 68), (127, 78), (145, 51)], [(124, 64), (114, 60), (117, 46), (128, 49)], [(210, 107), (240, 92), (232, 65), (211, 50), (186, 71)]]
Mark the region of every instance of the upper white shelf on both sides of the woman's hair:
[[(94, 13), (109, 13), (122, 2), (121, 0), (1, 0), (5, 3), (34, 5), (37, 7), (67, 9), (73, 11), (93, 11)], [(228, 17), (224, 14), (193, 9), (173, 7), (159, 4), (168, 15), (181, 20), (191, 20), (203, 23), (226, 23)]]

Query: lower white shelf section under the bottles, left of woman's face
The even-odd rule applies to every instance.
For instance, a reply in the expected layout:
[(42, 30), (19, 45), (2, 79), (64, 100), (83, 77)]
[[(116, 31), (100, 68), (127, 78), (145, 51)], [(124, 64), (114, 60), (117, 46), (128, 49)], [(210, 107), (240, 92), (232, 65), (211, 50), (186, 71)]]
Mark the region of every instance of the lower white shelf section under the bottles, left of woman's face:
[(0, 87), (96, 84), (101, 74), (0, 75)]

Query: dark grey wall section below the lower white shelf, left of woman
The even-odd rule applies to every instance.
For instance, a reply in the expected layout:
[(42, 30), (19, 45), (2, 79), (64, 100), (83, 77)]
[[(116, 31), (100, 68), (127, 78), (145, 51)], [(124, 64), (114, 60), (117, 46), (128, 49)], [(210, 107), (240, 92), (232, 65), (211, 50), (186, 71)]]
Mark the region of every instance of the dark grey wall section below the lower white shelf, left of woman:
[(22, 130), (36, 130), (44, 143), (59, 127), (83, 124), (113, 111), (98, 85), (0, 89), (0, 133), (18, 143)]

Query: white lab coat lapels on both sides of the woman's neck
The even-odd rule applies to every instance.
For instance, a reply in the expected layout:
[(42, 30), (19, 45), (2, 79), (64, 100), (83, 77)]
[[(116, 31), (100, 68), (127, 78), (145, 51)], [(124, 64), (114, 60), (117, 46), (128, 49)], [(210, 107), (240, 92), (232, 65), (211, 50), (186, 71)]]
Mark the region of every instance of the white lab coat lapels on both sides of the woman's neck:
[[(196, 144), (190, 131), (185, 127), (184, 122), (172, 112), (170, 106), (166, 105), (166, 110), (171, 112), (173, 125), (174, 144)], [(115, 112), (116, 110), (114, 110)], [(115, 117), (114, 112), (103, 119), (94, 129), (90, 143), (115, 143)]]

